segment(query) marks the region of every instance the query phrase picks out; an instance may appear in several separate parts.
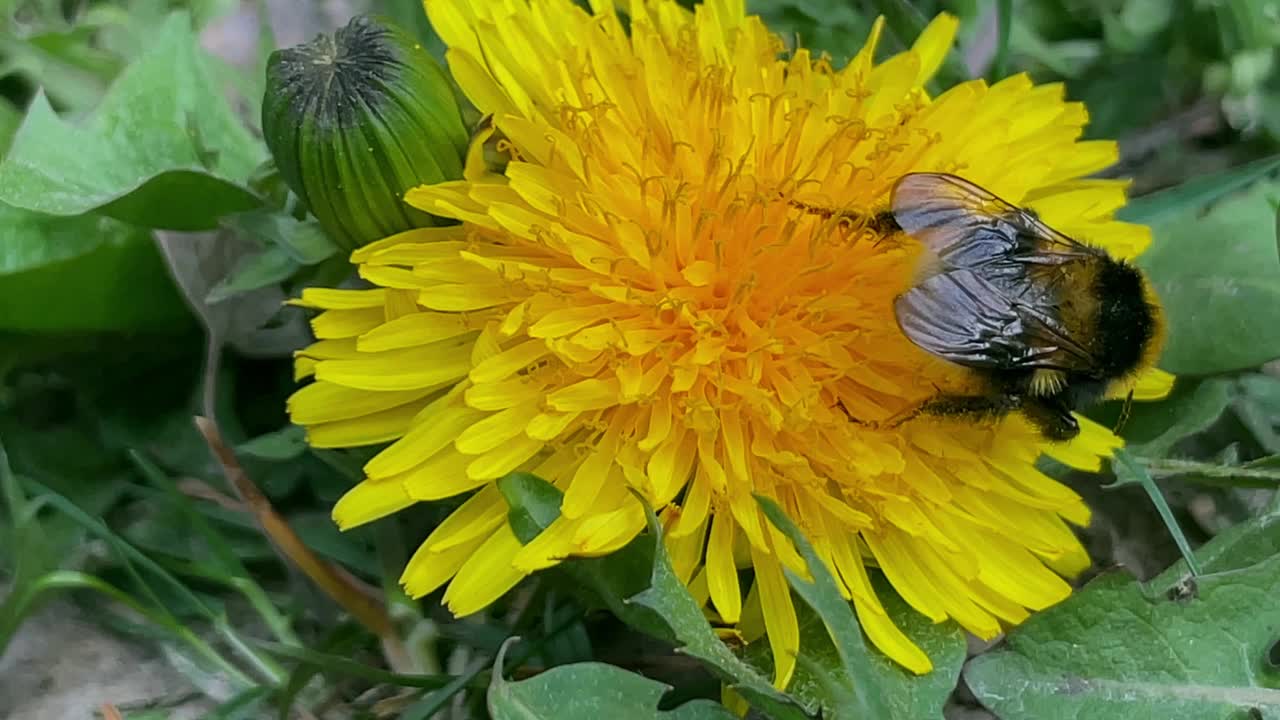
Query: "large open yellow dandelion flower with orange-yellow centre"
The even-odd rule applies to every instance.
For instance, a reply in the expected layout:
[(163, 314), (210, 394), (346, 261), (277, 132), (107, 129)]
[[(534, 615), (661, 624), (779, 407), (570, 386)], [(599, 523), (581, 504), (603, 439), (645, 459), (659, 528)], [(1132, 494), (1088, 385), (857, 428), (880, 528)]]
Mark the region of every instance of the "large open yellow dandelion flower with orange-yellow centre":
[[(477, 138), (467, 179), (407, 195), (462, 224), (357, 250), (372, 290), (302, 296), (323, 313), (298, 356), (315, 382), (291, 400), (293, 420), (315, 446), (394, 441), (337, 521), (472, 493), (402, 579), (412, 596), (448, 583), (444, 601), (466, 615), (535, 570), (625, 546), (645, 527), (635, 488), (695, 594), (768, 635), (778, 685), (800, 642), (783, 568), (804, 564), (753, 493), (788, 511), (872, 642), (915, 673), (929, 659), (868, 568), (983, 638), (1066, 597), (1062, 577), (1089, 562), (1068, 523), (1089, 510), (1034, 462), (1097, 469), (1120, 441), (1084, 419), (1064, 445), (1019, 416), (850, 421), (891, 416), (957, 372), (893, 319), (919, 250), (797, 204), (881, 209), (904, 173), (950, 172), (1130, 258), (1149, 233), (1112, 219), (1124, 183), (1082, 179), (1115, 143), (1082, 141), (1084, 108), (1025, 76), (931, 97), (948, 15), (878, 64), (877, 23), (836, 70), (783, 53), (741, 0), (635, 1), (628, 29), (611, 1), (591, 6), (428, 4), (511, 163), (486, 173)], [(1137, 396), (1169, 382), (1149, 372)], [(564, 493), (525, 546), (495, 484), (515, 470)]]

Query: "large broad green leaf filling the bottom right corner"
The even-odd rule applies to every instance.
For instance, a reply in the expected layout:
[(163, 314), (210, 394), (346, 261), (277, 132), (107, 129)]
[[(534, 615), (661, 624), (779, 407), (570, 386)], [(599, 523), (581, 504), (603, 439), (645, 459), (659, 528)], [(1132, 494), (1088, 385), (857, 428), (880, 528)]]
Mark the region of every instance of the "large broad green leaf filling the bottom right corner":
[(969, 662), (965, 680), (1002, 720), (1280, 717), (1280, 676), (1266, 666), (1280, 633), (1277, 547), (1268, 516), (1201, 548), (1210, 574), (1194, 580), (1178, 568), (1148, 587), (1102, 575)]

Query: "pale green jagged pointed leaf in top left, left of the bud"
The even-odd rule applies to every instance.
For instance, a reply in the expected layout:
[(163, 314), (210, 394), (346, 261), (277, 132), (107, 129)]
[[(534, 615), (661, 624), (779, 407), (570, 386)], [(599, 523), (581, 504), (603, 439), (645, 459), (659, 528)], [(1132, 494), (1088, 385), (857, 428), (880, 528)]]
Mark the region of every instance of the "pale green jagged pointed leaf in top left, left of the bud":
[(79, 127), (37, 95), (0, 164), (0, 201), (91, 210), (140, 225), (207, 229), (260, 205), (242, 183), (265, 156), (211, 81), (184, 13), (116, 79)]

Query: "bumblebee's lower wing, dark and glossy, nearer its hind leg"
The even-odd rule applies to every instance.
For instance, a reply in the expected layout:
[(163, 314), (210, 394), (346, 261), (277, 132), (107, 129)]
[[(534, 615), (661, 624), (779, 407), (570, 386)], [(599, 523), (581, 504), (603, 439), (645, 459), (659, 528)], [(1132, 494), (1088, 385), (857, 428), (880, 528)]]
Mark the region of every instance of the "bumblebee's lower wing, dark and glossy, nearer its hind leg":
[(902, 333), (959, 365), (1084, 370), (1093, 357), (1051, 315), (1010, 297), (978, 272), (931, 275), (893, 302)]

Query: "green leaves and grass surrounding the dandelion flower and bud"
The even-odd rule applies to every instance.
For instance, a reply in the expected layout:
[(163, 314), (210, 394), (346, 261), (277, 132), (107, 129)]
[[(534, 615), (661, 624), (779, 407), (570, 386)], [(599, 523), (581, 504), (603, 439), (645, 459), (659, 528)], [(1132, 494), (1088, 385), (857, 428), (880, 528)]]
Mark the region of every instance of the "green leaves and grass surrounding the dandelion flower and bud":
[[(396, 585), (448, 502), (352, 533), (333, 527), (328, 509), (369, 452), (312, 451), (287, 424), (289, 352), (307, 334), (282, 301), (349, 268), (284, 188), (257, 127), (273, 27), (301, 41), (348, 19), (321, 5), (0, 0), (0, 652), (63, 598), (163, 648), (210, 717), (722, 717), (708, 702), (721, 682), (780, 717), (819, 707), (826, 717), (1052, 719), (1080, 707), (1280, 717), (1266, 660), (1280, 637), (1280, 3), (749, 1), (837, 64), (877, 14), (888, 54), (952, 12), (961, 37), (947, 79), (1004, 68), (1062, 82), (1088, 102), (1091, 136), (1121, 140), (1108, 172), (1134, 177), (1142, 197), (1126, 217), (1153, 227), (1142, 264), (1169, 306), (1162, 364), (1183, 375), (1167, 400), (1133, 409), (1125, 434), (1204, 570), (1190, 584), (1178, 565), (1149, 583), (1096, 580), (970, 660), (972, 692), (956, 691), (965, 652), (955, 626), (887, 600), (938, 666), (908, 676), (863, 647), (822, 573), (792, 577), (808, 650), (791, 696), (769, 687), (765, 647), (739, 652), (705, 621), (653, 537), (543, 573), (456, 621), (438, 597), (410, 602)], [(443, 53), (413, 3), (343, 6), (385, 12)], [(282, 561), (196, 414), (216, 415), (308, 547), (381, 593), (393, 642)], [(1094, 415), (1114, 423), (1119, 404)], [(1061, 475), (1092, 493), (1085, 539), (1101, 548), (1098, 566), (1176, 560), (1140, 491)], [(558, 514), (544, 486), (504, 480), (518, 532)], [(1142, 530), (1142, 518), (1157, 530)], [(1080, 692), (1064, 700), (1064, 687)], [(550, 705), (567, 692), (581, 702)], [(17, 701), (0, 697), (0, 714)]]

